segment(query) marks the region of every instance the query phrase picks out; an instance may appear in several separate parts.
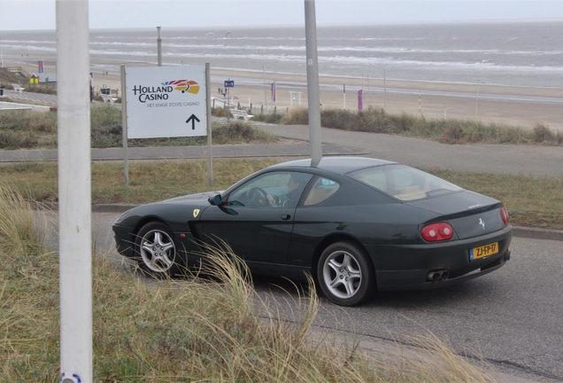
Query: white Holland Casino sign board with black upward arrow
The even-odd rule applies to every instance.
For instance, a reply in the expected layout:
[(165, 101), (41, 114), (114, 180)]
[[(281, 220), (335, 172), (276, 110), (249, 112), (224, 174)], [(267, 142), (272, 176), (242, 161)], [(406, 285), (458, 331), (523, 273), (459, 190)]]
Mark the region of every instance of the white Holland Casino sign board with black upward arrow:
[(207, 135), (205, 66), (125, 67), (125, 82), (128, 138)]

